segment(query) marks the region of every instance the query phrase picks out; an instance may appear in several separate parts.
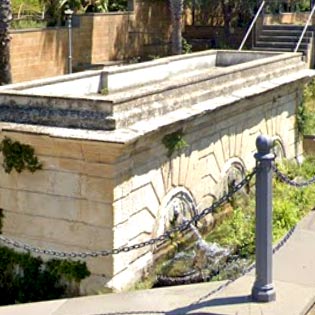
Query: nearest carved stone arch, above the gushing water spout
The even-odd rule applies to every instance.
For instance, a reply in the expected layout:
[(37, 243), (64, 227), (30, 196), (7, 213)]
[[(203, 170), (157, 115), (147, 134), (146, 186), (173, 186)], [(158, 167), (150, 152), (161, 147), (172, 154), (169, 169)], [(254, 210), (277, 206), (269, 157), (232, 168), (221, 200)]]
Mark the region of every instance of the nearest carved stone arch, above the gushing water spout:
[(182, 186), (173, 188), (164, 196), (156, 217), (153, 237), (171, 228), (172, 222), (176, 219), (176, 213), (179, 214), (177, 224), (181, 223), (180, 220), (183, 218), (190, 219), (197, 214), (193, 195)]

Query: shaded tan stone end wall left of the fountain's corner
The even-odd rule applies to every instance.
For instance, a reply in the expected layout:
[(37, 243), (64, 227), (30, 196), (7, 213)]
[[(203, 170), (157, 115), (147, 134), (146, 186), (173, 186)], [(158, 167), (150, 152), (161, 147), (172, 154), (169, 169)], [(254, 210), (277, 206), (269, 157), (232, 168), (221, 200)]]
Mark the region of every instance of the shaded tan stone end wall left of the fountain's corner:
[[(5, 136), (32, 145), (43, 169), (7, 174), (1, 167), (3, 232), (45, 248), (112, 248), (113, 191), (125, 165), (117, 158), (121, 146), (2, 130)], [(87, 259), (87, 266), (92, 277), (82, 292), (96, 292), (111, 277), (112, 257)]]

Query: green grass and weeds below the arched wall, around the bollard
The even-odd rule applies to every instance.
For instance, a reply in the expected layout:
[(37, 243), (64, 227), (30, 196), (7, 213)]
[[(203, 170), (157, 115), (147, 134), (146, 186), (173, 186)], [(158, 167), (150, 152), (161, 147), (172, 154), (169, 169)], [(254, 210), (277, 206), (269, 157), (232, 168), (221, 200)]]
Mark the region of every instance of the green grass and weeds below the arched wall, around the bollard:
[[(315, 157), (307, 157), (302, 165), (283, 161), (278, 168), (289, 178), (299, 180), (309, 179), (315, 175)], [(220, 271), (211, 276), (211, 281), (235, 279), (254, 261), (255, 256), (255, 188), (250, 188), (247, 195), (244, 192), (234, 195), (230, 201), (233, 208), (231, 214), (224, 220), (219, 220), (215, 228), (205, 236), (206, 241), (232, 249), (232, 255), (225, 265), (220, 265)], [(273, 242), (277, 243), (292, 227), (294, 227), (315, 205), (315, 189), (313, 185), (295, 188), (273, 180)], [(220, 208), (219, 211), (222, 211)], [(180, 234), (178, 235), (180, 241)], [(174, 240), (175, 241), (175, 240)], [(187, 244), (186, 244), (187, 245)], [(184, 253), (183, 253), (184, 251)], [(193, 251), (192, 244), (179, 246), (177, 252), (187, 255)], [(134, 289), (148, 289), (154, 285), (156, 275), (178, 277), (189, 273), (194, 266), (187, 260), (186, 264), (170, 264), (174, 253), (160, 261)], [(170, 261), (168, 259), (171, 259)], [(224, 264), (224, 263), (223, 263)], [(221, 268), (222, 267), (222, 268)], [(207, 270), (204, 270), (207, 272)]]

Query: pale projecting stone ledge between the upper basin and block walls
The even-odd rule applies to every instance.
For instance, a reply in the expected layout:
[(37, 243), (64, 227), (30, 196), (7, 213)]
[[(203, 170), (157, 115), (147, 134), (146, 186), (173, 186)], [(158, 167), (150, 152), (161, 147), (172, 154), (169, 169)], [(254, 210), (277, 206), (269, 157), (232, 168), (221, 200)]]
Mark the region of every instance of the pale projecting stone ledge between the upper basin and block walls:
[(267, 82), (261, 82), (255, 86), (240, 89), (232, 92), (230, 95), (219, 96), (204, 102), (200, 102), (190, 108), (181, 108), (176, 111), (167, 113), (161, 117), (151, 118), (146, 121), (140, 121), (128, 128), (119, 128), (117, 130), (84, 130), (77, 128), (60, 128), (50, 126), (38, 126), (32, 124), (18, 124), (10, 122), (0, 122), (2, 131), (25, 132), (32, 134), (48, 135), (56, 138), (71, 138), (78, 140), (100, 141), (128, 144), (137, 141), (143, 135), (150, 134), (162, 128), (176, 128), (185, 120), (192, 120), (198, 116), (206, 115), (212, 111), (218, 110), (225, 106), (231, 106), (249, 97), (255, 97), (261, 93), (291, 84), (292, 82), (308, 82), (315, 76), (315, 71), (304, 69), (299, 72), (274, 78)]

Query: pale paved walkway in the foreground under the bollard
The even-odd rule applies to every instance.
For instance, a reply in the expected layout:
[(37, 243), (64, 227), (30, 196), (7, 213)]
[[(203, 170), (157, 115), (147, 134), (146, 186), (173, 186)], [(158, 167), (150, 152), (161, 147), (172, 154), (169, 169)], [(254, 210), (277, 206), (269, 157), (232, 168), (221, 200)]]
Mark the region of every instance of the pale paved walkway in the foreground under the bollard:
[(211, 296), (221, 283), (4, 306), (0, 315), (304, 315), (315, 303), (315, 212), (274, 255), (276, 301), (252, 302), (253, 282), (254, 272)]

